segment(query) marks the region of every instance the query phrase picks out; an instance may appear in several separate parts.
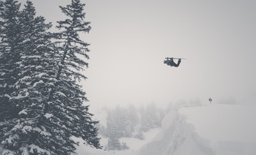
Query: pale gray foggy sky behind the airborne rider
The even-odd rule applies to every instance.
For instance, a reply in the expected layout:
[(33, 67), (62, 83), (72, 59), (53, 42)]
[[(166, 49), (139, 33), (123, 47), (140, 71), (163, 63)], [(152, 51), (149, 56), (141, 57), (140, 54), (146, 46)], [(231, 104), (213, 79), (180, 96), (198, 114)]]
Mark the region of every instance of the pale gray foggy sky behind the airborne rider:
[[(24, 1), (24, 0), (22, 0)], [(83, 82), (88, 104), (253, 102), (256, 1), (88, 0), (92, 31)], [(38, 15), (60, 20), (68, 0), (34, 0)], [(54, 23), (55, 24), (55, 23)], [(179, 68), (165, 57), (184, 57)]]

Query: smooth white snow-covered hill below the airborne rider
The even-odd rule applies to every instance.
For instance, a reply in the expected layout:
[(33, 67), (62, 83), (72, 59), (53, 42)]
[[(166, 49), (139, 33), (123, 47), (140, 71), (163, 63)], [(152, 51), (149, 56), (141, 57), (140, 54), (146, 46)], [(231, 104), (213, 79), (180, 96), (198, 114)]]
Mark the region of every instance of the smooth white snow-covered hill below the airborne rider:
[(138, 150), (106, 152), (81, 145), (77, 152), (81, 155), (253, 155), (256, 154), (255, 111), (255, 106), (242, 105), (173, 107), (164, 117), (156, 137)]

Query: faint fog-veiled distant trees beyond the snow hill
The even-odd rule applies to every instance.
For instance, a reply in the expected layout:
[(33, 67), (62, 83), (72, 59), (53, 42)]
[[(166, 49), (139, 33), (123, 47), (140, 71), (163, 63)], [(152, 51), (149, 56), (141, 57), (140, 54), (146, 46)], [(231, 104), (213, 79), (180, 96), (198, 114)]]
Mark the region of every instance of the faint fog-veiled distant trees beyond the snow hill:
[(157, 108), (154, 103), (146, 107), (136, 108), (133, 105), (128, 107), (117, 106), (114, 109), (106, 109), (108, 114), (106, 126), (100, 124), (99, 133), (108, 138), (106, 149), (122, 150), (128, 149), (122, 137), (134, 137), (143, 140), (143, 132), (152, 128), (159, 128), (164, 117), (164, 112)]

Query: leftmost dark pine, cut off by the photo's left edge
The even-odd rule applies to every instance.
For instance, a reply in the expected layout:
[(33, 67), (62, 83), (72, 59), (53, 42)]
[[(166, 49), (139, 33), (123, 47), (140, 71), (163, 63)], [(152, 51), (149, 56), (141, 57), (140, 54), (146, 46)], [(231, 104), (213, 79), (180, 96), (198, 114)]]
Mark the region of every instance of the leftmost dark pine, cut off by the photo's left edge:
[(19, 74), (19, 8), (20, 3), (15, 0), (1, 1), (0, 4), (0, 122), (15, 117), (10, 111), (16, 107), (9, 103), (9, 98)]

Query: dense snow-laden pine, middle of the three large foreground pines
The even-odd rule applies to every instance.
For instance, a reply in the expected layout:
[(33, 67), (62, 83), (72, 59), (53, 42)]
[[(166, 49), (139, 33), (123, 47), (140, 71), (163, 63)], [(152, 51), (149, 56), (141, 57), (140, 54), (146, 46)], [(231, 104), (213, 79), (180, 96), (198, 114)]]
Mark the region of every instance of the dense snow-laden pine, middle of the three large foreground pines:
[(19, 26), (20, 73), (9, 98), (19, 111), (12, 111), (15, 117), (5, 120), (1, 144), (4, 154), (57, 154), (51, 145), (56, 135), (49, 133), (49, 119), (43, 119), (49, 117), (44, 109), (57, 70), (54, 51), (49, 47), (51, 37), (46, 32), (51, 24), (45, 24), (43, 17), (35, 17), (35, 8), (27, 1), (19, 15)]

